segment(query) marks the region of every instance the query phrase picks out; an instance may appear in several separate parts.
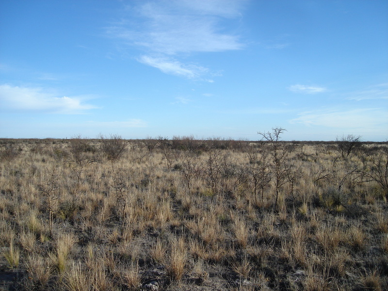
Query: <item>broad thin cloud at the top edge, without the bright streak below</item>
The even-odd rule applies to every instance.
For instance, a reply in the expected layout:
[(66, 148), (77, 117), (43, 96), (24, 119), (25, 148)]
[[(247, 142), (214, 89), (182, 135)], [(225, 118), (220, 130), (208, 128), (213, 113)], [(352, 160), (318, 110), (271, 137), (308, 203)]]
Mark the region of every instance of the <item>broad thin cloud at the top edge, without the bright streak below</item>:
[(242, 49), (238, 36), (221, 33), (222, 18), (239, 15), (242, 1), (155, 1), (139, 9), (147, 21), (141, 34), (122, 27), (121, 36), (164, 53), (214, 52)]

